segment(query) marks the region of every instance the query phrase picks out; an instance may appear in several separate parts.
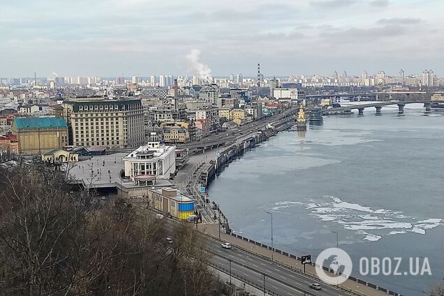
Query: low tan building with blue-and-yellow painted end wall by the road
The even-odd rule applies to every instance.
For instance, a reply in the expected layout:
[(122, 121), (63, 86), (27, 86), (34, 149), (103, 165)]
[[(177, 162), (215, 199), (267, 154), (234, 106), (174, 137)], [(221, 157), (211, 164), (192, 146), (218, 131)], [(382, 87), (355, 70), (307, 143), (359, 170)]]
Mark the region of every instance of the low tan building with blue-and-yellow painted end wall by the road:
[(195, 214), (194, 201), (174, 188), (149, 190), (148, 202), (150, 207), (179, 219), (187, 219)]

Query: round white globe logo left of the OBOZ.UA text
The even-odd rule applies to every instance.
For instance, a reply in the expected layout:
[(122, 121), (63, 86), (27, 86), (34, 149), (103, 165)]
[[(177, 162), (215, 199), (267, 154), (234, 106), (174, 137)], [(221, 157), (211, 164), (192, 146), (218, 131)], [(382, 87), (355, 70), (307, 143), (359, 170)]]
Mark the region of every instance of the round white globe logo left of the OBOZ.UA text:
[[(324, 267), (327, 267), (328, 270), (325, 270)], [(352, 268), (352, 260), (343, 249), (326, 249), (316, 258), (316, 274), (321, 281), (330, 285), (339, 285), (339, 283), (346, 281)]]

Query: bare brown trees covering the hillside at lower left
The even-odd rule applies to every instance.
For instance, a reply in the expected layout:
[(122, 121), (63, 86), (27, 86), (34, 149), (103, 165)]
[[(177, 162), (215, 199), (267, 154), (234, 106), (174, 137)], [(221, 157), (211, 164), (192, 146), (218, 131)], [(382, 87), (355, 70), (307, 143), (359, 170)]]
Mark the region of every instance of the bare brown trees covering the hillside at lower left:
[(95, 200), (62, 170), (0, 169), (0, 295), (223, 293), (198, 232)]

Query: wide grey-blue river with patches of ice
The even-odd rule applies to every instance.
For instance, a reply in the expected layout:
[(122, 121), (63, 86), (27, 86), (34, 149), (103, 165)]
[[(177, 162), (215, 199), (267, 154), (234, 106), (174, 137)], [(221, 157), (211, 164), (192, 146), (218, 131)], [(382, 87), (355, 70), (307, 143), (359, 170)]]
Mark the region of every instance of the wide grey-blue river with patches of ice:
[[(444, 113), (420, 104), (325, 117), (247, 151), (209, 187), (236, 233), (296, 255), (336, 246), (353, 274), (403, 295), (444, 279)], [(362, 256), (428, 258), (431, 276), (362, 276)], [(392, 267), (393, 269), (393, 267)]]

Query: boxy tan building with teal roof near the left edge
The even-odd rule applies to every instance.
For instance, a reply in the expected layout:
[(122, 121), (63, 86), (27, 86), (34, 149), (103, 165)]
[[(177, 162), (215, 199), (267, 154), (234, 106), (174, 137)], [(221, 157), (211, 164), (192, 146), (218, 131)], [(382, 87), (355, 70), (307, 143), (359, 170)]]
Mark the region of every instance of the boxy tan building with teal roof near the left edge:
[(44, 154), (68, 145), (68, 126), (63, 118), (16, 118), (11, 126), (20, 154)]

